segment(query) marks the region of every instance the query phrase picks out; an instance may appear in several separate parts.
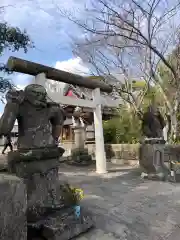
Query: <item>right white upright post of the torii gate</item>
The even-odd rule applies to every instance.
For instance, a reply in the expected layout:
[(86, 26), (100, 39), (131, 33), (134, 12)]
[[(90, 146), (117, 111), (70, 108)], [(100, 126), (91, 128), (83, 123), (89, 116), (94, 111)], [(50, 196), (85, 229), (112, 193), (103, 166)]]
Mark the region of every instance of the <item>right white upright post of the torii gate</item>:
[(95, 141), (96, 141), (96, 172), (103, 174), (106, 173), (106, 155), (104, 149), (104, 135), (102, 125), (102, 111), (101, 111), (101, 95), (100, 89), (96, 88), (92, 91), (93, 101), (96, 104), (94, 112), (94, 128), (95, 128)]

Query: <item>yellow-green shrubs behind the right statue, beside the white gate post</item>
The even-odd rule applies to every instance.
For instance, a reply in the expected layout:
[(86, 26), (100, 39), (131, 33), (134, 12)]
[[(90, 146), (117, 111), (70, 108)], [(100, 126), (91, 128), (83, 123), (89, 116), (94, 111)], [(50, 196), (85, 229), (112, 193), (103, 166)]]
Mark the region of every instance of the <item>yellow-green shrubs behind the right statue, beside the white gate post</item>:
[[(141, 105), (142, 113), (152, 103), (163, 113), (164, 99), (156, 86), (146, 92)], [(142, 137), (141, 115), (138, 116), (131, 105), (121, 106), (117, 116), (104, 121), (103, 127), (105, 143), (137, 143)]]

